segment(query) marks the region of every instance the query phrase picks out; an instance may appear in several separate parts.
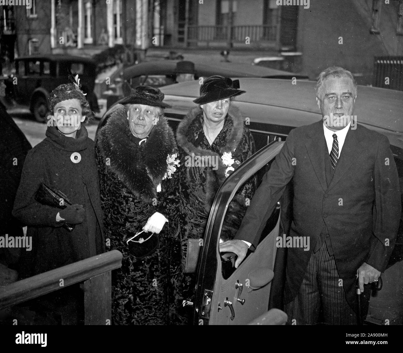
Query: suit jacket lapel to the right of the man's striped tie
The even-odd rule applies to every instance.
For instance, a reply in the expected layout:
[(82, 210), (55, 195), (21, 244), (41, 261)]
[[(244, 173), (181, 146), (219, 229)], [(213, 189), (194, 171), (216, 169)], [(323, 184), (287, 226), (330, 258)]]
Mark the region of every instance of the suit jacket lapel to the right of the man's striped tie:
[(330, 181), (328, 190), (336, 185), (343, 175), (352, 167), (353, 162), (357, 159), (357, 155), (360, 155), (362, 146), (359, 143), (359, 136), (356, 130), (347, 132), (346, 139), (344, 140), (343, 147), (341, 149), (339, 161), (337, 162), (336, 169), (334, 169), (333, 178)]

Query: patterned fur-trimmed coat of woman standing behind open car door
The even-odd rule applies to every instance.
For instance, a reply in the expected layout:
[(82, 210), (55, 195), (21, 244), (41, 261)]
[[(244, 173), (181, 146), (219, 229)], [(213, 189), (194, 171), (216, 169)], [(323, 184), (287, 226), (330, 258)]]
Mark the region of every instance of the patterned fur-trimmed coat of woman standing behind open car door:
[[(183, 218), (181, 226), (182, 270), (185, 269), (187, 240), (204, 237), (206, 223), (216, 192), (226, 179), (226, 166), (221, 156), (231, 152), (237, 167), (255, 152), (255, 142), (244, 118), (237, 107), (231, 104), (224, 126), (214, 143), (210, 146), (203, 132), (203, 111), (199, 107), (192, 109), (181, 121), (177, 129), (177, 143), (181, 156), (179, 173), (174, 175), (175, 183), (180, 185), (180, 209)], [(192, 154), (211, 156), (218, 160), (218, 168), (192, 166)], [(237, 161), (240, 162), (237, 164)], [(194, 164), (196, 165), (196, 164)], [(246, 212), (246, 198), (251, 199), (256, 189), (256, 179), (247, 180), (235, 194), (227, 210), (222, 227), (221, 238), (232, 239)], [(193, 275), (182, 274), (181, 286), (177, 298), (189, 299), (194, 295)]]

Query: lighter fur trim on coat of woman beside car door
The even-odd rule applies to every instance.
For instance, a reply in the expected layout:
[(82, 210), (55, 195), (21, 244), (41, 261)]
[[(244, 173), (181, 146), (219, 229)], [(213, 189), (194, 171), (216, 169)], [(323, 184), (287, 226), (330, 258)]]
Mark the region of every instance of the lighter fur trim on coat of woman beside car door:
[[(213, 170), (212, 167), (207, 167), (206, 169), (206, 211), (210, 212), (211, 205), (213, 203), (214, 197), (218, 188), (221, 186), (222, 182), (226, 179), (225, 171), (227, 166), (222, 163), (221, 156), (224, 152), (231, 152), (234, 155), (234, 150), (239, 146), (244, 134), (244, 119), (241, 111), (231, 104), (228, 110), (227, 119), (231, 119), (233, 127), (230, 129), (229, 134), (226, 136), (225, 144), (220, 146), (220, 154), (196, 147), (190, 140), (193, 136), (189, 136), (189, 127), (191, 126), (194, 119), (203, 119), (202, 109), (196, 107), (192, 109), (186, 117), (179, 123), (177, 129), (177, 143), (181, 146), (185, 153), (189, 156), (194, 154), (195, 156), (211, 156), (214, 158), (218, 156), (218, 169)], [(225, 124), (224, 124), (225, 127)]]

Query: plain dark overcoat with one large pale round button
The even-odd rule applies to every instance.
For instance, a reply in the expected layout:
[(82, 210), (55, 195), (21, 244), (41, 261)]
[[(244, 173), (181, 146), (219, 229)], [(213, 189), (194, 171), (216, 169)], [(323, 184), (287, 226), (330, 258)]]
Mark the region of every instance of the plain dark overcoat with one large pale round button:
[[(72, 161), (74, 152), (81, 156), (79, 163)], [(73, 231), (69, 232), (62, 227), (62, 222), (56, 221), (60, 209), (35, 200), (35, 193), (42, 182), (60, 190), (73, 204), (84, 206), (86, 217)], [(96, 225), (92, 221), (95, 229), (89, 230), (87, 217), (90, 208), (91, 215), (95, 213)], [(32, 250), (22, 252), (20, 278), (104, 252), (103, 213), (94, 142), (88, 138), (84, 125), (77, 131), (76, 138), (66, 137), (57, 127), (48, 126), (46, 138), (27, 154), (12, 213), (28, 225), (27, 236), (32, 236)], [(88, 234), (95, 234), (95, 244)], [(96, 253), (91, 254), (94, 245)]]

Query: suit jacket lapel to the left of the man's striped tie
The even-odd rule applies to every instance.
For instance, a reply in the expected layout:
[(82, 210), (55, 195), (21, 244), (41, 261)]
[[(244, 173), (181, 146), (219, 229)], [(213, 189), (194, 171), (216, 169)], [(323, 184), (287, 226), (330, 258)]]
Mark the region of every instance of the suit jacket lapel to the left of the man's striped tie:
[(305, 147), (320, 185), (322, 186), (323, 191), (326, 191), (328, 186), (325, 172), (325, 155), (323, 153), (323, 148), (326, 146), (326, 140), (323, 133), (322, 120), (318, 121), (318, 123), (314, 125), (314, 129), (311, 134), (308, 135), (308, 137), (309, 138), (305, 143)]

